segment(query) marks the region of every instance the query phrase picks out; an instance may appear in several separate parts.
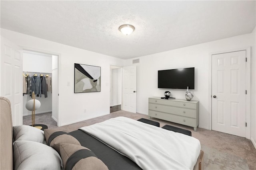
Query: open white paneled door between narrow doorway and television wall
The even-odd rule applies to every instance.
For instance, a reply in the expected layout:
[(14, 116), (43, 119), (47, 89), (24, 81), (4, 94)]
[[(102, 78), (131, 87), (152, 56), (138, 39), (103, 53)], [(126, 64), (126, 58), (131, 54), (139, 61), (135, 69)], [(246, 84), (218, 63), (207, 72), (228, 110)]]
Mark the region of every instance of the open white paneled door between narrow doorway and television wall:
[(122, 110), (136, 113), (136, 66), (123, 67)]

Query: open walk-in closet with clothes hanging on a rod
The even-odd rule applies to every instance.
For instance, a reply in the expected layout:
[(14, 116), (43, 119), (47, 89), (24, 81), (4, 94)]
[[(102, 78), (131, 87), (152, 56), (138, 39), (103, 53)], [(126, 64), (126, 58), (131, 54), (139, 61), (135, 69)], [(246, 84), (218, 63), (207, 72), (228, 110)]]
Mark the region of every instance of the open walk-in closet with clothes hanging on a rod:
[[(47, 113), (58, 121), (58, 56), (23, 51), (23, 116), (31, 115), (26, 103), (32, 99), (40, 101), (40, 108), (35, 113)], [(36, 122), (37, 123), (37, 122)], [(27, 123), (23, 123), (27, 124)]]

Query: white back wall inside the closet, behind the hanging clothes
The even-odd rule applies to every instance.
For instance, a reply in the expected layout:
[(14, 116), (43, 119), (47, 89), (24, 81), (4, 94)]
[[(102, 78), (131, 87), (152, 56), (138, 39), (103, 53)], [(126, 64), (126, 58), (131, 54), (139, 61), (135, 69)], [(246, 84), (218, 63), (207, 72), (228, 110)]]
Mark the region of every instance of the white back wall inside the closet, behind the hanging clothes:
[[(52, 73), (52, 57), (50, 55), (23, 52), (23, 72)], [(51, 92), (47, 92), (47, 98), (44, 98), (44, 94), (42, 94), (41, 98), (36, 97), (36, 99), (41, 102), (41, 107), (35, 111), (36, 114), (52, 111)], [(31, 100), (31, 96), (25, 94), (23, 96), (23, 115), (31, 115), (31, 111), (28, 111), (25, 107), (29, 100)]]

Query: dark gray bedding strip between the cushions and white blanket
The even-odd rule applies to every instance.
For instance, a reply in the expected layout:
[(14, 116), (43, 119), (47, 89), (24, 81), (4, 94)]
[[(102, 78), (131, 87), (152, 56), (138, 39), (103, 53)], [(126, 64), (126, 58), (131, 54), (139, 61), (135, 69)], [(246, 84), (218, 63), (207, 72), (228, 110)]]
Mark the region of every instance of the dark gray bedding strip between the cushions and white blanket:
[(92, 150), (109, 170), (141, 170), (132, 160), (81, 130), (72, 131), (70, 135), (75, 137), (82, 146)]

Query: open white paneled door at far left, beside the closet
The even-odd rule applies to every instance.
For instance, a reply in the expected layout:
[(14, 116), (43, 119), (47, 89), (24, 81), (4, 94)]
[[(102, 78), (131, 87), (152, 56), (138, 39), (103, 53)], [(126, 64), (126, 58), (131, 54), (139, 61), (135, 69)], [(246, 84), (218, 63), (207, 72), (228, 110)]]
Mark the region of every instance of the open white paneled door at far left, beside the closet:
[(22, 48), (1, 36), (1, 91), (10, 100), (13, 126), (22, 125)]

